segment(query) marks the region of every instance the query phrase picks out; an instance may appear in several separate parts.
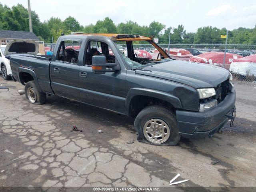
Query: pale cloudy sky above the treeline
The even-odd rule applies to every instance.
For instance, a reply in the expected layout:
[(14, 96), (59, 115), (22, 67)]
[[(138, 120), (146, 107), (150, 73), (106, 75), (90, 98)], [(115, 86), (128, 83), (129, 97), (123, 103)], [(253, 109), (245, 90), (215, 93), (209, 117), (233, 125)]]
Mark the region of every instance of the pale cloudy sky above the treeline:
[[(27, 0), (1, 0), (11, 7)], [(256, 0), (30, 0), (31, 9), (40, 20), (51, 16), (64, 20), (72, 16), (81, 25), (95, 24), (105, 17), (115, 24), (132, 20), (140, 25), (158, 21), (166, 28), (182, 24), (187, 32), (214, 26), (233, 30), (256, 25)]]

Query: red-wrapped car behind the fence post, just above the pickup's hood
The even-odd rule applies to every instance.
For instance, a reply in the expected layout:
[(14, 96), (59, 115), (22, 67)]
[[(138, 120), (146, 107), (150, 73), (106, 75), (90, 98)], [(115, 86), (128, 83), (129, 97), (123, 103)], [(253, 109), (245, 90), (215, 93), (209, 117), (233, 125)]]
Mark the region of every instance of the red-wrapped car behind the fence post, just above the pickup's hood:
[[(233, 61), (233, 59), (237, 58), (242, 58), (242, 56), (232, 53), (226, 53), (224, 68), (229, 70), (231, 62)], [(224, 62), (224, 52), (205, 52), (200, 55), (190, 57), (189, 61), (222, 67)]]

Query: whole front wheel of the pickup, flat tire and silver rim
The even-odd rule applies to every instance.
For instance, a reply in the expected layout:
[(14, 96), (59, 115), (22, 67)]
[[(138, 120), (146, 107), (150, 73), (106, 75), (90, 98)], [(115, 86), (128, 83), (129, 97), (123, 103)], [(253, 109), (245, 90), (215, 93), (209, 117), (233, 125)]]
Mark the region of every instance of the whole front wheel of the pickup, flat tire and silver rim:
[(136, 117), (134, 126), (138, 141), (173, 146), (180, 140), (175, 115), (164, 106), (148, 106)]

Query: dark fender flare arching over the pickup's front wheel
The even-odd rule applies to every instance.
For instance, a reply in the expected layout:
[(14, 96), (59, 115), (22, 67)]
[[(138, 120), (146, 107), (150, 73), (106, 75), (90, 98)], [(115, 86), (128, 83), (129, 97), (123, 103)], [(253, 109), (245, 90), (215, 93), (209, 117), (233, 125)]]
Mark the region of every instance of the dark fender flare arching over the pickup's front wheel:
[(125, 101), (125, 114), (129, 115), (129, 107), (130, 107), (130, 102), (134, 96), (149, 96), (149, 97), (154, 97), (158, 99), (162, 99), (174, 106), (176, 109), (182, 109), (182, 103), (180, 102), (180, 99), (172, 94), (158, 91), (158, 90), (153, 90), (153, 89), (147, 89), (147, 88), (131, 88), (128, 91), (128, 94), (126, 96), (126, 101)]

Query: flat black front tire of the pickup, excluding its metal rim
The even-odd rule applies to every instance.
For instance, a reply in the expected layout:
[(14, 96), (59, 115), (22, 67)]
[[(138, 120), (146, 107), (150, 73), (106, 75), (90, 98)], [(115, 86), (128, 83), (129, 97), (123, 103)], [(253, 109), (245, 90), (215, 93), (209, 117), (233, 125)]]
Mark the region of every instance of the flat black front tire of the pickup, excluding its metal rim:
[[(170, 136), (163, 143), (153, 143), (150, 142), (145, 136), (143, 132), (144, 125), (146, 122), (152, 119), (160, 119), (166, 122), (169, 128)], [(139, 142), (144, 142), (148, 144), (158, 145), (158, 146), (174, 146), (180, 140), (180, 134), (177, 127), (177, 121), (174, 113), (169, 110), (167, 107), (152, 105), (144, 108), (136, 117), (134, 121), (134, 127), (138, 132), (137, 140)]]

